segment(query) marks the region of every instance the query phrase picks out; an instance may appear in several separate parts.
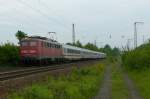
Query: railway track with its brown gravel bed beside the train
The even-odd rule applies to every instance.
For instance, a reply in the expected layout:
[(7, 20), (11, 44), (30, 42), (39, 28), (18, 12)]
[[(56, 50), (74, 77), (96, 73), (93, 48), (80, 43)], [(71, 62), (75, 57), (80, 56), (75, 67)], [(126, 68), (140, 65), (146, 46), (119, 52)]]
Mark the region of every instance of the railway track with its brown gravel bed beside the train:
[(98, 61), (100, 60), (78, 61), (46, 67), (30, 67), (0, 72), (0, 99), (6, 99), (5, 97), (12, 90), (18, 90), (39, 80), (45, 80), (44, 77), (46, 75), (52, 74), (57, 76), (57, 74), (61, 73), (67, 74), (74, 66), (77, 68), (90, 66)]

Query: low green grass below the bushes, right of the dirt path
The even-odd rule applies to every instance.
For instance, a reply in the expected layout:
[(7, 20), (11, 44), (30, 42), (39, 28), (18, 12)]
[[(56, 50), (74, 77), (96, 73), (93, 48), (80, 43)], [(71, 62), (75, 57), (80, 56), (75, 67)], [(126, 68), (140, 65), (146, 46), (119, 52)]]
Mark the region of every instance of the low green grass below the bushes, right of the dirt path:
[(150, 68), (130, 70), (128, 73), (133, 79), (140, 95), (142, 95), (144, 99), (150, 99)]

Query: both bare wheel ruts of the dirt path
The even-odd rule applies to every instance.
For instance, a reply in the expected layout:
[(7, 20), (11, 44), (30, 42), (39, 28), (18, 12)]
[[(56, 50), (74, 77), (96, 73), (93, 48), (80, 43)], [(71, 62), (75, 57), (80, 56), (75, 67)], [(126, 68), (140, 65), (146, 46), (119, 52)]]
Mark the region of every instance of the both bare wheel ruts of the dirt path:
[[(116, 64), (116, 68), (118, 68), (118, 70), (121, 72), (121, 77), (124, 81), (124, 86), (125, 88), (127, 88), (127, 91), (129, 93), (129, 96), (127, 99), (143, 99), (138, 90), (136, 89), (134, 83), (132, 82), (132, 80), (129, 78), (128, 74), (126, 72), (123, 71), (122, 67), (120, 66), (120, 64)], [(111, 65), (107, 65), (105, 72), (104, 72), (104, 79), (102, 82), (102, 85), (100, 87), (100, 90), (97, 94), (97, 96), (94, 99), (111, 99), (111, 89), (112, 89), (112, 71), (113, 68)], [(118, 87), (118, 86), (116, 86)], [(121, 90), (121, 89), (120, 89)]]

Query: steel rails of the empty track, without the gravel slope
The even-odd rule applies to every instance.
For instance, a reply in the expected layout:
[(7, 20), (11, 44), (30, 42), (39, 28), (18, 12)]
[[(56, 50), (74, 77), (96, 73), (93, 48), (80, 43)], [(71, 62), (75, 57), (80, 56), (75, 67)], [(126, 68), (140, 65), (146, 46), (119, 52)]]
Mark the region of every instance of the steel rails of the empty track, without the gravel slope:
[(72, 64), (73, 63), (63, 64), (63, 65), (60, 64), (60, 65), (46, 66), (46, 67), (35, 67), (35, 68), (21, 69), (21, 70), (13, 70), (13, 71), (8, 71), (8, 72), (1, 72), (0, 73), (0, 81), (24, 77), (27, 75), (36, 74), (36, 73), (40, 73), (40, 72), (64, 69), (66, 67), (69, 67)]

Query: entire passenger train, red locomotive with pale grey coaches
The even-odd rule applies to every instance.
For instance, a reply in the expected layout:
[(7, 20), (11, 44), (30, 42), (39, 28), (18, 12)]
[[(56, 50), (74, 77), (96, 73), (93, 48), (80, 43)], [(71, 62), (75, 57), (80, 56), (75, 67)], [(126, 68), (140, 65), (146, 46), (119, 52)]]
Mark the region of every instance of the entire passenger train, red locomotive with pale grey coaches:
[(41, 36), (31, 36), (21, 40), (21, 63), (47, 64), (73, 60), (103, 59), (105, 53), (60, 44)]

